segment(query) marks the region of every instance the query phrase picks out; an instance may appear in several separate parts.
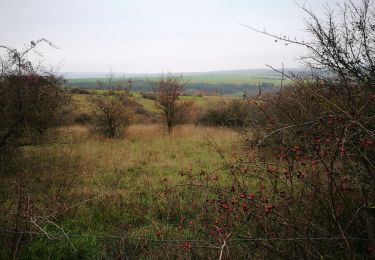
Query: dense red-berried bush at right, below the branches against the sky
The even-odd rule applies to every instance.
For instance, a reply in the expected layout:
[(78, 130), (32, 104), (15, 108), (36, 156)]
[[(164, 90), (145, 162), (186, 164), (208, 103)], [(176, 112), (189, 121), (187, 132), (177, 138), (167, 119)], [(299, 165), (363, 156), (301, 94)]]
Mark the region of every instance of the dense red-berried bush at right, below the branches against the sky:
[(354, 121), (335, 109), (324, 85), (311, 87), (314, 94), (296, 86), (257, 98), (262, 131), (233, 154), (228, 176), (186, 174), (186, 185), (207, 190), (200, 221), (207, 239), (226, 240), (229, 250), (240, 239), (232, 244), (244, 257), (371, 253), (374, 97), (362, 96), (369, 106)]

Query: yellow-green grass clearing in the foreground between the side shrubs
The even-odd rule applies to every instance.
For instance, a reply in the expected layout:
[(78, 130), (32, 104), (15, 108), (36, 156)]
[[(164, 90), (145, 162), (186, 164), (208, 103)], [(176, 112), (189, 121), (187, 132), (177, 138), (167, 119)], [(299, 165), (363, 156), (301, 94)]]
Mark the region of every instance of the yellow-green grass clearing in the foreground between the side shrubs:
[[(52, 216), (71, 234), (78, 251), (64, 239), (34, 237), (21, 251), (30, 258), (102, 257), (118, 250), (108, 238), (98, 238), (103, 233), (158, 239), (155, 234), (163, 231), (165, 239), (195, 237), (176, 230), (175, 223), (181, 215), (194, 215), (189, 205), (196, 195), (187, 191), (168, 196), (163, 190), (180, 183), (180, 171), (214, 171), (223, 165), (212, 140), (227, 158), (240, 149), (236, 132), (193, 125), (177, 127), (171, 136), (158, 125), (133, 125), (125, 138), (112, 140), (92, 135), (83, 126), (65, 127), (61, 133), (53, 145), (25, 148), (19, 170), (25, 196), (34, 204), (33, 216)], [(0, 224), (9, 228), (17, 210), (17, 176), (2, 181), (0, 209), (6, 218)], [(43, 221), (39, 224), (52, 228)], [(40, 231), (33, 226), (32, 230)], [(128, 243), (138, 247), (138, 242)], [(148, 249), (134, 255), (145, 252)]]

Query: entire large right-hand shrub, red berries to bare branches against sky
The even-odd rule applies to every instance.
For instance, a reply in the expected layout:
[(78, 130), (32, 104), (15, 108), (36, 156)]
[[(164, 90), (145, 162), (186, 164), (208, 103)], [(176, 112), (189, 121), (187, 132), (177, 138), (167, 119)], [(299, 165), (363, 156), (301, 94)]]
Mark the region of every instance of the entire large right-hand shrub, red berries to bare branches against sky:
[[(312, 73), (280, 70), (293, 86), (249, 98), (256, 110), (244, 154), (233, 154), (230, 183), (184, 173), (207, 192), (200, 228), (218, 253), (242, 245), (248, 258), (375, 257), (374, 2), (345, 2), (326, 20), (307, 13)], [(226, 248), (226, 250), (223, 250)]]

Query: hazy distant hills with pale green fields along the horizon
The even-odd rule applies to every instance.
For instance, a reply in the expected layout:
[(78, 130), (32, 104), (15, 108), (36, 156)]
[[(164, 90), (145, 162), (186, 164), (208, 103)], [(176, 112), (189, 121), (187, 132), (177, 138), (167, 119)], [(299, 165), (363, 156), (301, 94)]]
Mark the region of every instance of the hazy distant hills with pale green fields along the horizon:
[[(303, 72), (302, 69), (285, 69), (286, 73)], [(67, 79), (68, 87), (85, 89), (98, 88), (97, 81), (100, 80), (105, 86), (108, 73), (102, 72), (66, 72), (63, 76)], [(132, 88), (136, 91), (150, 91), (148, 80), (157, 80), (161, 74), (125, 74), (112, 73), (114, 86), (124, 86), (128, 80), (132, 80)], [(187, 92), (190, 94), (216, 93), (218, 95), (239, 96), (247, 92), (256, 92), (259, 87), (265, 91), (276, 90), (280, 87), (281, 74), (271, 69), (250, 70), (222, 70), (209, 72), (182, 73), (189, 80)], [(289, 81), (284, 81), (288, 84)]]

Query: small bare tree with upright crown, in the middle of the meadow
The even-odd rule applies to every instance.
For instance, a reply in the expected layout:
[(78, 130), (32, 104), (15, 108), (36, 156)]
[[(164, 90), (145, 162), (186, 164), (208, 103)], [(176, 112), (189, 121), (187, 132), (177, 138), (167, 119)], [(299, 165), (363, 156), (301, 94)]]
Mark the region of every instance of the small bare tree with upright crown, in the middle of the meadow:
[(156, 108), (164, 118), (168, 134), (192, 108), (193, 103), (179, 97), (188, 84), (182, 75), (162, 75), (159, 81), (149, 81), (155, 95)]

